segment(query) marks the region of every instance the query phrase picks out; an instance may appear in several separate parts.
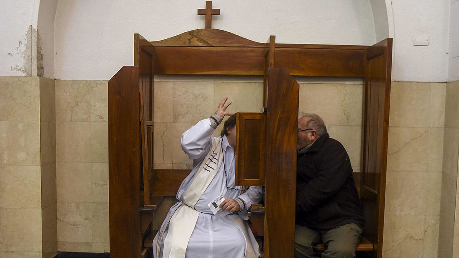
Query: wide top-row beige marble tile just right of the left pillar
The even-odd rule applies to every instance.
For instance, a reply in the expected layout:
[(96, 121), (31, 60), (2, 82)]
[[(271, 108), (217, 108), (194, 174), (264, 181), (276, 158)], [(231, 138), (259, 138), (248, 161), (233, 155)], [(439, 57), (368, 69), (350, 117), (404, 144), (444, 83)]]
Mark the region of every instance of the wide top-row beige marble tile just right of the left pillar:
[(56, 121), (91, 121), (90, 81), (56, 80)]

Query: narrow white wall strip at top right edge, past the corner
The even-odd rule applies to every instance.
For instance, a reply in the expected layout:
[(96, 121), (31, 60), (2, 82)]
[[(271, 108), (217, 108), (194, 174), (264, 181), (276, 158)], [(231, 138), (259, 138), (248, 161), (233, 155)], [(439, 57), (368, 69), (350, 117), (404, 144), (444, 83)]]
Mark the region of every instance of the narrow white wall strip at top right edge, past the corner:
[(451, 0), (448, 57), (448, 81), (459, 81), (459, 0)]

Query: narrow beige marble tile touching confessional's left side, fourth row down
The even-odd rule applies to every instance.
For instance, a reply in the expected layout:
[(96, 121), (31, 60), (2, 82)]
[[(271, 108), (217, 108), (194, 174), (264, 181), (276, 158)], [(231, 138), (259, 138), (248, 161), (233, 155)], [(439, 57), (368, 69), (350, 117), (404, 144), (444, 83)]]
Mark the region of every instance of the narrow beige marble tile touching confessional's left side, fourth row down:
[(92, 242), (109, 242), (108, 203), (91, 203)]

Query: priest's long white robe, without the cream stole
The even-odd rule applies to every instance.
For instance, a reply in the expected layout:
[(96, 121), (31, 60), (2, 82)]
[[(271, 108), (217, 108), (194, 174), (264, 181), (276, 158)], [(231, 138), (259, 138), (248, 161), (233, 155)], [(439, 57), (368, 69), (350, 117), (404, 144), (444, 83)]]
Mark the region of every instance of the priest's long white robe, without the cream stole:
[[(164, 231), (161, 242), (161, 252), (159, 258), (163, 257), (164, 241), (167, 239), (168, 229), (171, 226), (180, 227), (183, 223), (190, 223), (188, 220), (174, 220), (175, 214), (179, 213), (180, 209), (191, 209), (190, 207), (182, 204), (183, 194), (190, 187), (193, 182), (193, 178), (196, 173), (201, 169), (201, 165), (207, 154), (212, 147), (212, 133), (214, 129), (210, 126), (210, 120), (208, 118), (199, 121), (195, 126), (192, 126), (186, 132), (183, 133), (181, 138), (182, 149), (185, 153), (193, 159), (193, 169), (179, 187), (176, 198), (179, 203), (174, 204), (166, 219), (162, 223), (161, 231)], [(215, 141), (215, 140), (214, 140)], [(235, 187), (235, 150), (229, 145), (226, 136), (218, 139), (218, 143), (221, 144), (220, 148), (223, 148), (224, 165), (222, 164), (218, 169), (217, 173), (213, 177), (212, 181), (202, 193), (199, 200), (194, 205), (194, 209), (199, 212), (197, 217), (196, 225), (191, 233), (186, 247), (185, 258), (252, 258), (259, 256), (259, 247), (255, 241), (252, 231), (250, 231), (246, 220), (248, 219), (247, 209), (250, 208), (252, 203), (259, 203), (262, 199), (262, 188), (261, 187), (249, 187), (246, 192), (238, 191), (234, 189), (228, 189), (228, 187), (243, 189), (243, 187)], [(225, 168), (227, 179), (225, 179)], [(207, 206), (208, 203), (213, 201), (214, 198), (222, 195), (224, 198), (236, 198), (239, 197), (246, 203), (246, 209), (236, 214), (228, 214), (228, 212), (220, 212), (217, 215), (213, 215), (212, 211)], [(186, 213), (182, 210), (182, 213)], [(170, 217), (172, 219), (169, 222), (168, 227), (166, 222)], [(158, 258), (156, 254), (156, 247), (158, 242), (157, 236), (153, 240), (153, 256)], [(174, 245), (174, 240), (171, 241), (168, 246)], [(170, 257), (173, 255), (171, 253)], [(178, 257), (178, 256), (174, 256)], [(166, 257), (164, 257), (166, 258)]]

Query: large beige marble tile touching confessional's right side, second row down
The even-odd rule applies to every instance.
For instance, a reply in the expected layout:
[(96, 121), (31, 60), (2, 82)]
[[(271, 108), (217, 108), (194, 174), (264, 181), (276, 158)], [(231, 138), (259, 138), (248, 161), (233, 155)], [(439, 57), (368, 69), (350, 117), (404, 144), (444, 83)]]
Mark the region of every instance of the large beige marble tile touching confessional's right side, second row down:
[(389, 127), (387, 170), (426, 171), (430, 131), (423, 127)]

